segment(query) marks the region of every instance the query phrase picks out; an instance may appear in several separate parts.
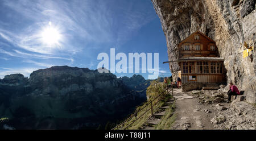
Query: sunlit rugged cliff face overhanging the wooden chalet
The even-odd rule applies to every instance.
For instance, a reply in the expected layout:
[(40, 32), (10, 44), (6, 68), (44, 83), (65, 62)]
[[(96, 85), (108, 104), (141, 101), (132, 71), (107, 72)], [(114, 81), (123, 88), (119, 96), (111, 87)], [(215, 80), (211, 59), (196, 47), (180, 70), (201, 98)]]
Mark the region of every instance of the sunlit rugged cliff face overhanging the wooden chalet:
[[(256, 52), (243, 59), (243, 42), (255, 47), (254, 0), (151, 0), (166, 35), (169, 61), (177, 60), (177, 43), (199, 30), (216, 41), (228, 82), (256, 91)], [(170, 67), (171, 68), (171, 67)], [(172, 63), (179, 70), (177, 63)]]

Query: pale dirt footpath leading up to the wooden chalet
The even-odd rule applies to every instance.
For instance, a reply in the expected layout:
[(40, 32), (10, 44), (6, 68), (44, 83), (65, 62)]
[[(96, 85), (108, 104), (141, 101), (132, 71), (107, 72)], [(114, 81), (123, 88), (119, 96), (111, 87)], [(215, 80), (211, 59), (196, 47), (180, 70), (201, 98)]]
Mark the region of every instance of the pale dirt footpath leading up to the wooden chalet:
[(200, 109), (198, 99), (174, 89), (176, 121), (172, 129), (214, 129), (210, 117)]

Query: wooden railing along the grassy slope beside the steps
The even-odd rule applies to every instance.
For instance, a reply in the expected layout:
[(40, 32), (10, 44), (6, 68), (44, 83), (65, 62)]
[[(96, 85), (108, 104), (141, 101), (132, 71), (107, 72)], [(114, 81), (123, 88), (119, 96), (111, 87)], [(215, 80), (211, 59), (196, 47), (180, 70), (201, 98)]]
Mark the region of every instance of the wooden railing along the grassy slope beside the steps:
[[(157, 83), (157, 84), (160, 84), (160, 83), (162, 83), (162, 82), (159, 82), (159, 83)], [(155, 84), (155, 85), (157, 85), (157, 84)], [(171, 85), (171, 88), (172, 88), (172, 96), (174, 96), (174, 91), (173, 91), (173, 86), (172, 86), (172, 85)], [(138, 119), (142, 118), (143, 115), (145, 115), (145, 114), (146, 114), (148, 111), (150, 111), (150, 110), (151, 110), (151, 117), (154, 116), (154, 110), (153, 110), (153, 108), (154, 108), (154, 106), (155, 106), (156, 104), (159, 103), (159, 101), (161, 101), (161, 100), (164, 99), (164, 97), (163, 97), (163, 98), (160, 98), (160, 99), (158, 99), (158, 98), (159, 98), (160, 96), (163, 96), (163, 93), (166, 92), (166, 90), (167, 90), (167, 93), (168, 93), (168, 85), (166, 85), (166, 88), (164, 89), (164, 91), (163, 91), (162, 93), (160, 93), (157, 97), (155, 97), (154, 99), (152, 99), (149, 103), (147, 103), (144, 107), (142, 107), (142, 109), (136, 111), (136, 113), (135, 113), (133, 116), (127, 118), (125, 121), (123, 121), (122, 123), (119, 123), (117, 126), (115, 126), (114, 128), (112, 128), (112, 130), (114, 130), (114, 129), (117, 129), (117, 130), (119, 130), (119, 129), (126, 130), (129, 126), (131, 126), (131, 125), (132, 125), (135, 121), (137, 121)], [(158, 99), (158, 101), (156, 101), (156, 102), (153, 104), (153, 102), (154, 102), (156, 99)], [(138, 113), (139, 113), (140, 111), (142, 111), (143, 109), (145, 109), (148, 105), (150, 105), (150, 109), (147, 109), (144, 113), (142, 113), (142, 114), (137, 118)], [(131, 123), (130, 123), (129, 125), (127, 125), (126, 127), (119, 128), (119, 127), (121, 127), (122, 125), (124, 125), (126, 122), (130, 121), (133, 117), (135, 117), (135, 120), (134, 120), (133, 122), (131, 122)], [(151, 118), (151, 117), (149, 117), (149, 118)], [(148, 119), (149, 119), (149, 118), (148, 118)]]

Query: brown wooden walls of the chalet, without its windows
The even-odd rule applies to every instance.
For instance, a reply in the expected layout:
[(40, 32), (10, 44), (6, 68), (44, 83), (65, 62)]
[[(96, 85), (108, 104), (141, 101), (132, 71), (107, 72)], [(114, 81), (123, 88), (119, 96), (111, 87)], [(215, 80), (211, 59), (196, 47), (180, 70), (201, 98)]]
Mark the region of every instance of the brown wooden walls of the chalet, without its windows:
[[(200, 39), (195, 39), (195, 36), (200, 36)], [(183, 45), (189, 45), (189, 50), (184, 50)], [(196, 45), (200, 45), (200, 50), (196, 50)], [(214, 45), (215, 50), (211, 51), (210, 50), (210, 46)], [(179, 58), (184, 58), (184, 57), (219, 57), (218, 55), (218, 48), (216, 46), (216, 43), (208, 38), (206, 35), (204, 35), (203, 33), (196, 31), (193, 34), (191, 34), (190, 36), (188, 36), (186, 39), (184, 39), (182, 42), (180, 42), (178, 44), (179, 47)], [(199, 62), (208, 62), (208, 64), (206, 64), (205, 66), (209, 67), (208, 70), (209, 72), (197, 72), (197, 65), (196, 65), (196, 60), (191, 60), (191, 61), (187, 61), (189, 62), (194, 62), (194, 69), (195, 72), (190, 72), (191, 74), (189, 74), (189, 72), (183, 72), (183, 63), (179, 63), (179, 66), (181, 68), (181, 82), (182, 83), (195, 83), (195, 82), (202, 82), (202, 83), (216, 83), (216, 82), (226, 82), (226, 76), (225, 76), (225, 71), (224, 71), (224, 64), (223, 61), (199, 61)], [(210, 72), (210, 62), (218, 62), (222, 64), (222, 72)], [(192, 65), (191, 65), (192, 66)], [(202, 66), (202, 65), (201, 65)], [(215, 66), (215, 65), (213, 65)], [(217, 68), (217, 65), (216, 65)], [(193, 69), (193, 70), (194, 70)], [(217, 69), (218, 70), (218, 69)], [(189, 76), (191, 76), (189, 78)], [(193, 76), (193, 77), (192, 77)], [(195, 78), (195, 80), (194, 80)]]

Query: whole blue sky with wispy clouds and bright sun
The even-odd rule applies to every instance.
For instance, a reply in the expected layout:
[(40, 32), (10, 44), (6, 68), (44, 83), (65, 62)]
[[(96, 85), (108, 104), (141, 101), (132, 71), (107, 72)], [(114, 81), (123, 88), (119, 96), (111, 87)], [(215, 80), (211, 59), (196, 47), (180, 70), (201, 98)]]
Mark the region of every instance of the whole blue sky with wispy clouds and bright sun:
[[(110, 48), (127, 56), (159, 53), (159, 77), (171, 76), (163, 64), (166, 38), (150, 0), (1, 0), (0, 16), (0, 78), (61, 65), (94, 70), (102, 61), (98, 54), (110, 55)], [(148, 72), (136, 74), (148, 78)]]

